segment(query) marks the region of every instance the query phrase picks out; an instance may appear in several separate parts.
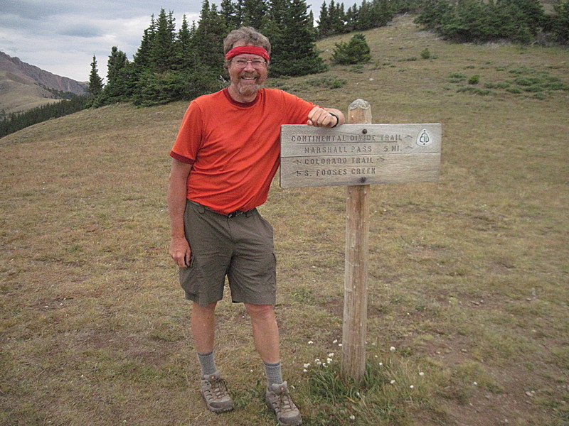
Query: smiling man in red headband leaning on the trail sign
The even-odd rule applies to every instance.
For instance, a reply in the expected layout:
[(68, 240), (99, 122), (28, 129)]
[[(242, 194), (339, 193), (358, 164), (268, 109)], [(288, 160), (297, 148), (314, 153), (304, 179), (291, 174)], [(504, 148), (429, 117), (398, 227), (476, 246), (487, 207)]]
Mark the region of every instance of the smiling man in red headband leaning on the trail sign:
[(266, 403), (280, 425), (300, 425), (282, 380), (272, 227), (255, 207), (267, 200), (279, 166), (280, 125), (331, 128), (344, 124), (344, 114), (262, 88), (271, 48), (253, 28), (232, 31), (223, 49), (230, 86), (191, 102), (170, 153), (170, 255), (193, 302), (191, 329), (208, 409), (233, 409), (213, 358), (214, 312), (227, 276), (233, 302), (243, 302), (250, 316), (267, 374)]

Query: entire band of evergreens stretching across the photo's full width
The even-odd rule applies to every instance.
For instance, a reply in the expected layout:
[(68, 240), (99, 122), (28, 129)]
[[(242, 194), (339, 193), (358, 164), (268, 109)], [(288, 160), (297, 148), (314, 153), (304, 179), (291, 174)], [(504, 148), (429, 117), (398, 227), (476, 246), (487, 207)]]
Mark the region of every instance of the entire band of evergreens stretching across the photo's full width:
[[(320, 38), (385, 26), (398, 13), (415, 13), (415, 22), (423, 28), (459, 43), (567, 44), (569, 0), (558, 1), (553, 9), (555, 13), (546, 14), (540, 0), (362, 0), (348, 9), (330, 0), (321, 4), (315, 26), (305, 0), (221, 0), (219, 6), (203, 0), (198, 22), (189, 23), (184, 16), (179, 28), (173, 12), (161, 9), (157, 17), (151, 16), (132, 60), (112, 47), (106, 79), (100, 77), (93, 56), (87, 99), (5, 116), (0, 137), (64, 114), (62, 110), (69, 114), (117, 102), (149, 107), (215, 92), (228, 84), (223, 38), (240, 26), (252, 26), (271, 41), (272, 77), (294, 77), (328, 69), (317, 50)], [(363, 35), (354, 36), (350, 43), (336, 44), (331, 62), (366, 62), (371, 59), (368, 51)], [(356, 60), (354, 52), (363, 60)]]

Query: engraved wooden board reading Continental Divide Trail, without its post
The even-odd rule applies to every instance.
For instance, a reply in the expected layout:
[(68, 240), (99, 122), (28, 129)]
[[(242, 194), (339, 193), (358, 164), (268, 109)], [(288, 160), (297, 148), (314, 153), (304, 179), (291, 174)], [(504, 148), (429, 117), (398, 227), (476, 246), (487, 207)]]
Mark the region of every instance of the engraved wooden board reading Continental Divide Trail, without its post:
[(441, 138), (440, 124), (281, 126), (280, 186), (435, 181)]

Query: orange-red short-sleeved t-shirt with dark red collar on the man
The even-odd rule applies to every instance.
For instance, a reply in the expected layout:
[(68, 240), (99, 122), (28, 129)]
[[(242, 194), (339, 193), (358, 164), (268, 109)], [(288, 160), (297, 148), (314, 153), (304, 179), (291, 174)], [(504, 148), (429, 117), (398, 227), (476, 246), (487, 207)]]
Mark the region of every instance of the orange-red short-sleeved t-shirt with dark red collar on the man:
[(260, 89), (249, 104), (228, 89), (194, 99), (170, 153), (193, 163), (188, 200), (223, 214), (260, 206), (279, 167), (280, 125), (306, 124), (314, 107), (279, 89)]

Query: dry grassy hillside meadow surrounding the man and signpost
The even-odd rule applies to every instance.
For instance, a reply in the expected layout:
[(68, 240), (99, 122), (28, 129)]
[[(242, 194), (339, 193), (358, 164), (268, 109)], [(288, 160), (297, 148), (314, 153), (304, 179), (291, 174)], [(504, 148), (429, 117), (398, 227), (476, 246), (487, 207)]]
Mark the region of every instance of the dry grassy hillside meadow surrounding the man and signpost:
[[(272, 84), (344, 111), (366, 99), (374, 123), (441, 123), (440, 181), (371, 187), (368, 366), (351, 383), (346, 188), (275, 180), (261, 211), (304, 425), (568, 425), (569, 51), (449, 44), (409, 16), (365, 34), (373, 62)], [(185, 109), (121, 104), (0, 140), (0, 425), (276, 425), (228, 300), (216, 351), (236, 409), (198, 393), (166, 214)]]

